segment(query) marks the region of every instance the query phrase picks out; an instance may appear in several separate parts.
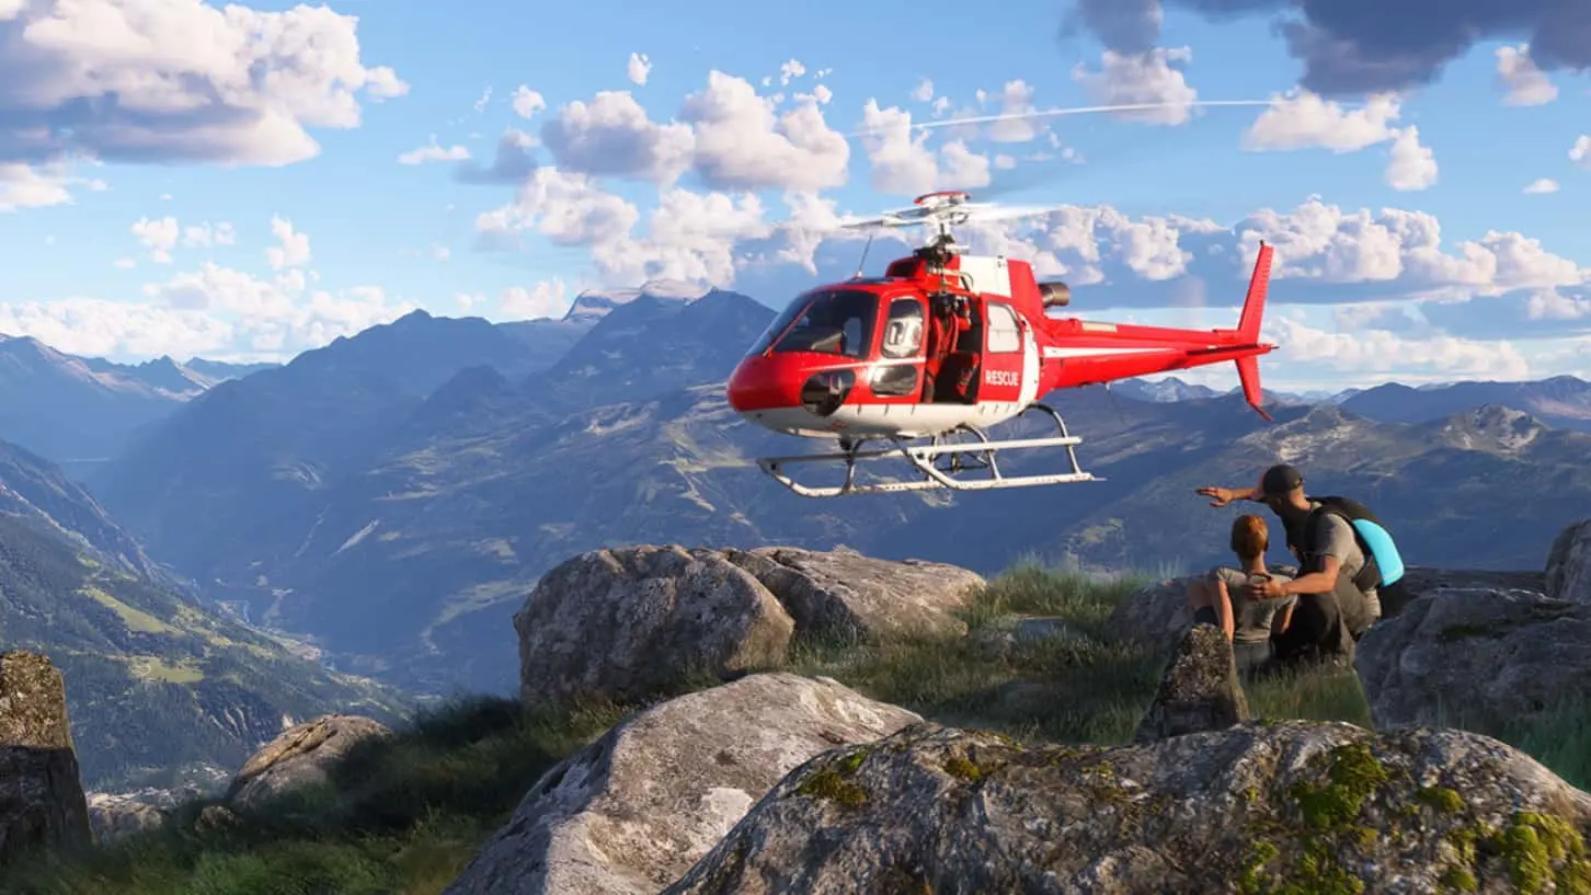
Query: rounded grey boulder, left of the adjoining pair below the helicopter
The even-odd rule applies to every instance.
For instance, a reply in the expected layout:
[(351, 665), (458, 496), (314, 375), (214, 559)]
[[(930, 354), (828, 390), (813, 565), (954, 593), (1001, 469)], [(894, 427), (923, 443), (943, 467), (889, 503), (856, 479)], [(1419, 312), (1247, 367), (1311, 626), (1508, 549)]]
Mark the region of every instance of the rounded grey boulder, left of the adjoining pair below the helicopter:
[(514, 615), (527, 706), (640, 699), (689, 674), (784, 660), (796, 622), (756, 577), (711, 550), (625, 547), (566, 560)]

